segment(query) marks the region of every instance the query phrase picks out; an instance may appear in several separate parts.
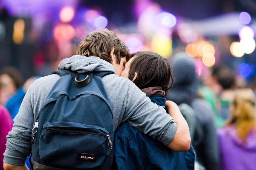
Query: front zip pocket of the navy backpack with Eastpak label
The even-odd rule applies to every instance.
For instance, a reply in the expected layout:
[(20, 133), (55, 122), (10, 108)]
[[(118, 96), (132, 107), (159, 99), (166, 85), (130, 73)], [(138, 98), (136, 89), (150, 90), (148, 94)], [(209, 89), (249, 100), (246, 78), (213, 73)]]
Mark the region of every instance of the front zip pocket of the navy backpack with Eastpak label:
[[(100, 168), (110, 156), (109, 133), (101, 127), (73, 122), (47, 122), (39, 139), (40, 158), (57, 168)], [(110, 150), (110, 152), (109, 152)]]

